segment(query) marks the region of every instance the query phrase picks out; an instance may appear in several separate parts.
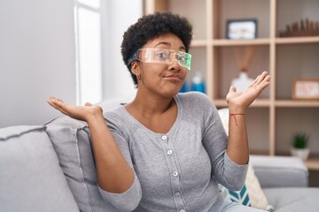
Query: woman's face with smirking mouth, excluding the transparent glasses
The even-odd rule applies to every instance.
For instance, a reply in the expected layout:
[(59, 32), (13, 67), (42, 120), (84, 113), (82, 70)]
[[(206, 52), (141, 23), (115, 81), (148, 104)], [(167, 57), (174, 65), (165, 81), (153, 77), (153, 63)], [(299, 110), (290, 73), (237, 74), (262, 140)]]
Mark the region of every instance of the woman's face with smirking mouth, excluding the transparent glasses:
[[(145, 48), (185, 51), (183, 42), (175, 34), (160, 35), (147, 42), (143, 49)], [(169, 64), (139, 62), (138, 66), (136, 76), (141, 75), (138, 89), (163, 97), (177, 95), (188, 72), (175, 59)]]

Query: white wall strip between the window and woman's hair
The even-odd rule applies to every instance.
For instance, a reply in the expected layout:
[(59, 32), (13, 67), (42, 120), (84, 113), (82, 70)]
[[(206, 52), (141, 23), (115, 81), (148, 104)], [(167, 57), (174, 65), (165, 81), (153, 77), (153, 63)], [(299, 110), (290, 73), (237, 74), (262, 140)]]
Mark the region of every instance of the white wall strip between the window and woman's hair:
[(143, 14), (143, 0), (106, 1), (107, 20), (104, 34), (107, 42), (104, 45), (103, 59), (104, 99), (126, 95), (134, 90), (134, 83), (121, 57), (121, 42), (124, 32)]

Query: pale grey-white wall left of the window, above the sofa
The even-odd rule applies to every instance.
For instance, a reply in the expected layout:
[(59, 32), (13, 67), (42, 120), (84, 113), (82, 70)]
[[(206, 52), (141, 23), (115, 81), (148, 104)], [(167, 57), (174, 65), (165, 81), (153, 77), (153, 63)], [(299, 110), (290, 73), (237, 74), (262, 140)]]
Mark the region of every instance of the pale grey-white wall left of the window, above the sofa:
[(75, 103), (72, 0), (0, 0), (0, 127), (41, 125)]

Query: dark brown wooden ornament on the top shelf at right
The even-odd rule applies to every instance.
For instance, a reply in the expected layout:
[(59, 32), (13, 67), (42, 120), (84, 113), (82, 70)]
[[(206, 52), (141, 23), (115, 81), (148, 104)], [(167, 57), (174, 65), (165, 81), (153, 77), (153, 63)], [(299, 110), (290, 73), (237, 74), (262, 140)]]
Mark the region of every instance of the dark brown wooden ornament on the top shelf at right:
[(286, 26), (284, 32), (279, 32), (280, 37), (319, 36), (319, 21), (300, 19)]

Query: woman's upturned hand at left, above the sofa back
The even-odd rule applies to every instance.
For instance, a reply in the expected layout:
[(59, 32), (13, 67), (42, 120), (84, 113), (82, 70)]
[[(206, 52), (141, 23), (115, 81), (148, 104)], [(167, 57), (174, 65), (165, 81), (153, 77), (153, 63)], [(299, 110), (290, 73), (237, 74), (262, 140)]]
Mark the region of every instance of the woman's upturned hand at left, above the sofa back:
[(82, 120), (85, 122), (89, 122), (90, 118), (94, 118), (96, 116), (103, 116), (103, 110), (101, 107), (92, 105), (87, 102), (84, 106), (74, 106), (69, 105), (63, 102), (62, 100), (51, 96), (47, 102), (56, 110), (59, 110), (63, 114), (73, 117), (78, 120)]

